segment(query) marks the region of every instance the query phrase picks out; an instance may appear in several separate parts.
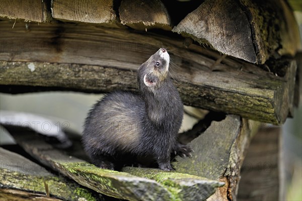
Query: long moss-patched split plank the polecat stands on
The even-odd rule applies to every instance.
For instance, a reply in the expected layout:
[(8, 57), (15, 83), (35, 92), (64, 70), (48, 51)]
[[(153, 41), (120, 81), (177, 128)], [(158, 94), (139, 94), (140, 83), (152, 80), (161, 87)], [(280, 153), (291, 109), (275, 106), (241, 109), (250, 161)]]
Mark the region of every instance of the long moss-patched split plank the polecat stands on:
[(139, 174), (137, 169), (140, 168), (125, 168), (129, 173), (101, 169), (54, 149), (33, 135), (32, 131), (16, 127), (6, 128), (16, 142), (41, 163), (81, 185), (109, 196), (129, 200), (192, 200), (186, 196), (192, 194), (194, 200), (205, 200), (216, 187), (224, 184), (199, 176), (147, 168)]

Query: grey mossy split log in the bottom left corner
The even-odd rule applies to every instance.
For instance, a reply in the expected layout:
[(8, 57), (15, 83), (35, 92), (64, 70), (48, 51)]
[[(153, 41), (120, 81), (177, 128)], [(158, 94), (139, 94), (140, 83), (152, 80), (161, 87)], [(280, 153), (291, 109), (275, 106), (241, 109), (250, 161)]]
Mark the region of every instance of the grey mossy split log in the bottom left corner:
[[(103, 200), (98, 193), (83, 188), (74, 181), (49, 173), (37, 163), (3, 148), (0, 148), (0, 162), (1, 200), (6, 200), (6, 198), (10, 200), (10, 196), (15, 193), (11, 191), (12, 189), (20, 190), (17, 194), (21, 193), (23, 198), (35, 198), (35, 200), (58, 200), (56, 198), (74, 201)], [(50, 197), (46, 196), (44, 182), (48, 186)]]

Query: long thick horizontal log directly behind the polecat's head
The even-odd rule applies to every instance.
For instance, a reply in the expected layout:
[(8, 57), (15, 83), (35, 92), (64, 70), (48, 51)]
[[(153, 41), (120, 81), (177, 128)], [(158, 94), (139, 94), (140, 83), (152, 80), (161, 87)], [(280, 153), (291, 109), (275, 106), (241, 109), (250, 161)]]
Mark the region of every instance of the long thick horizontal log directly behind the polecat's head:
[(0, 22), (2, 86), (137, 91), (136, 70), (165, 46), (174, 49), (170, 73), (185, 105), (282, 124), (292, 104), (294, 61), (280, 62), (282, 76), (228, 57), (210, 71), (218, 53), (184, 48), (172, 37), (72, 24), (31, 24), (28, 32), (22, 23), (11, 26)]

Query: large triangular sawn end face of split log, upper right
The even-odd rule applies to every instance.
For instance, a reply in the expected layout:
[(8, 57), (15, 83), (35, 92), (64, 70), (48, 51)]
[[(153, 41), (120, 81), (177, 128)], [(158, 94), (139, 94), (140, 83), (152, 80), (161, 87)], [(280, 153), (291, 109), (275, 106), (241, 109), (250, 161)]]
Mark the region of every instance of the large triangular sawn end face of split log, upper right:
[(237, 1), (205, 1), (172, 31), (207, 43), (223, 54), (257, 61), (250, 23)]

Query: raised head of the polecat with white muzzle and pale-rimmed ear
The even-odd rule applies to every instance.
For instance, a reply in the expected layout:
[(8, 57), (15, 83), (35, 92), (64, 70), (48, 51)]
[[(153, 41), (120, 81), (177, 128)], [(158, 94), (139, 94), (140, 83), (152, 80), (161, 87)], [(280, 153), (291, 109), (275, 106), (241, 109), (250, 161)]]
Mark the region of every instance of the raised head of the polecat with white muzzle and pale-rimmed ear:
[(151, 91), (168, 77), (170, 56), (165, 48), (159, 49), (154, 55), (141, 64), (138, 69), (138, 82), (143, 83)]

